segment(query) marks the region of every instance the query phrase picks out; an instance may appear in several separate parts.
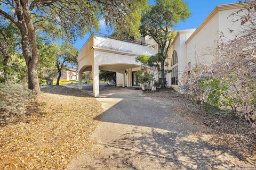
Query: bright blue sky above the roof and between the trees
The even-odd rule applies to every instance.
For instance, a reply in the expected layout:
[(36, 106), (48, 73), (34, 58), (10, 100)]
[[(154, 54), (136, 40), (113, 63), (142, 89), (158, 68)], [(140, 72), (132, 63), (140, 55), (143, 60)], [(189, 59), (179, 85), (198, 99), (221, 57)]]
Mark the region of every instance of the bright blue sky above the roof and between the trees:
[[(192, 13), (191, 17), (188, 18), (185, 22), (178, 23), (178, 27), (175, 30), (183, 30), (183, 29), (191, 29), (197, 28), (205, 18), (211, 13), (211, 11), (217, 6), (221, 4), (229, 4), (235, 3), (237, 0), (184, 0), (188, 3), (188, 7), (190, 12)], [(148, 4), (153, 4), (155, 1), (150, 0)], [(100, 32), (108, 33), (103, 21), (100, 21)], [(84, 38), (78, 38), (75, 46), (78, 50), (83, 46), (87, 38), (89, 38), (89, 34)]]

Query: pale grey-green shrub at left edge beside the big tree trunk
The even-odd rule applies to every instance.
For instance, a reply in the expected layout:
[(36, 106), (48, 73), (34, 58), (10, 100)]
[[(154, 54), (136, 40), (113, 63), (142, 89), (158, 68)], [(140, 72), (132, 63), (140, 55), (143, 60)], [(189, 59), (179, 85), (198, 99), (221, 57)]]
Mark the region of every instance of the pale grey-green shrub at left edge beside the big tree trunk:
[(35, 97), (33, 91), (28, 90), (21, 84), (7, 80), (0, 83), (0, 117), (13, 117), (26, 112), (29, 99)]

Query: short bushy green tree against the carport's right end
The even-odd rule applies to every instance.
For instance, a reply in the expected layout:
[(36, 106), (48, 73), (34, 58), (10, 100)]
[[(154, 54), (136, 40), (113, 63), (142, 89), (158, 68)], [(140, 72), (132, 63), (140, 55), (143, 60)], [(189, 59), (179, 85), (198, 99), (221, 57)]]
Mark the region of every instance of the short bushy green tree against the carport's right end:
[(137, 73), (139, 82), (149, 91), (155, 83), (154, 77), (160, 70), (159, 53), (152, 56), (140, 55), (136, 62), (141, 63), (141, 70)]

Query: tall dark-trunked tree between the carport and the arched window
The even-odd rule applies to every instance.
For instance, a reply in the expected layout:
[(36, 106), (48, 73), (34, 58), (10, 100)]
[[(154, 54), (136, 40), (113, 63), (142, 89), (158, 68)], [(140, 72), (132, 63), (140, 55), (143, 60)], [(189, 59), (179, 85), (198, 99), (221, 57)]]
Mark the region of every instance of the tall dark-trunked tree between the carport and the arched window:
[(165, 87), (165, 66), (168, 50), (175, 36), (171, 29), (180, 21), (185, 21), (191, 13), (187, 3), (182, 0), (156, 0), (143, 13), (141, 19), (141, 35), (152, 37), (158, 44), (161, 61), (162, 87)]

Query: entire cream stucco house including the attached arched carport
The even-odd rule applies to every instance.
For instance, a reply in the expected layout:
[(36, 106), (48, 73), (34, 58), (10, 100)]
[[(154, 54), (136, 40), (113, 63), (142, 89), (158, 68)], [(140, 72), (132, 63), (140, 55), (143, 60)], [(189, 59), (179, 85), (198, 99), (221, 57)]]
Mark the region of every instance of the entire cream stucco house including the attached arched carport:
[[(246, 3), (219, 5), (214, 8), (209, 16), (197, 29), (180, 30), (177, 32), (169, 49), (169, 66), (172, 70), (166, 75), (168, 87), (179, 89), (179, 78), (186, 67), (193, 67), (197, 63), (212, 64), (214, 56), (210, 49), (217, 47), (219, 33), (233, 39), (230, 29), (241, 30), (239, 23), (231, 21), (230, 14), (242, 8)], [(140, 63), (135, 57), (155, 55), (157, 44), (150, 37), (145, 37), (141, 44), (127, 43), (110, 39), (105, 35), (93, 35), (86, 41), (78, 54), (79, 89), (82, 89), (82, 72), (93, 72), (94, 96), (99, 96), (99, 70), (114, 71), (117, 73), (117, 86), (139, 86), (135, 72), (140, 70)], [(161, 75), (156, 75), (158, 80)]]

